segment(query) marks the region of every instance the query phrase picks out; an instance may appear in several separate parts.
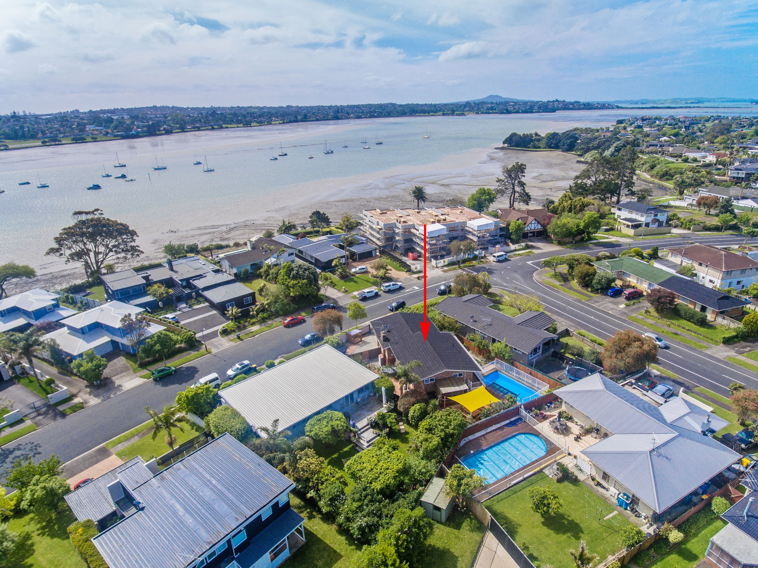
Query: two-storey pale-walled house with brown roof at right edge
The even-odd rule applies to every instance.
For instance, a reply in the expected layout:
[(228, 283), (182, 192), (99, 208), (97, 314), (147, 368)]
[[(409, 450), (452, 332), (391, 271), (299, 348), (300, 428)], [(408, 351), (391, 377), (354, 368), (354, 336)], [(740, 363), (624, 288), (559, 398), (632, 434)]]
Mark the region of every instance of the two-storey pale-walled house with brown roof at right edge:
[(741, 290), (758, 282), (758, 261), (713, 245), (685, 245), (666, 248), (669, 261), (689, 264), (697, 282), (708, 288)]

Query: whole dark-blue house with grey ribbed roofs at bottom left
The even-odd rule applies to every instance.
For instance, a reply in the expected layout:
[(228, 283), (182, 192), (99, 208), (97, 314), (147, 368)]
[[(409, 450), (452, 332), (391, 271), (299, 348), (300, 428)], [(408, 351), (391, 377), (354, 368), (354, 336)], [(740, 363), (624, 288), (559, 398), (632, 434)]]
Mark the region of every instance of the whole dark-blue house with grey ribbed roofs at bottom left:
[(231, 435), (151, 466), (135, 458), (65, 497), (77, 520), (110, 511), (92, 538), (110, 568), (274, 568), (305, 543), (293, 482)]

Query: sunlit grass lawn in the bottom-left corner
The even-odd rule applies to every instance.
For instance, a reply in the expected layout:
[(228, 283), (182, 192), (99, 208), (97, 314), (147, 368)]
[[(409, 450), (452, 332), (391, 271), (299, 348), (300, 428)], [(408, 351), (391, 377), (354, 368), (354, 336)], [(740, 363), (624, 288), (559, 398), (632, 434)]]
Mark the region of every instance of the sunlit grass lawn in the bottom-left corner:
[(86, 568), (86, 563), (68, 538), (67, 526), (74, 515), (66, 507), (52, 522), (33, 514), (17, 513), (8, 520), (8, 528), (18, 535), (18, 542), (7, 566), (16, 568)]

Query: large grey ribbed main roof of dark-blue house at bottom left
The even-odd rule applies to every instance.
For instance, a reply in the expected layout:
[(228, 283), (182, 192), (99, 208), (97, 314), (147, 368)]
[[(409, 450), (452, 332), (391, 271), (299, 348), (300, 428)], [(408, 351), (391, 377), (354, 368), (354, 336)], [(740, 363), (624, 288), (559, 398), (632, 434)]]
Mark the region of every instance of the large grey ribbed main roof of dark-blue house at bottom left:
[(110, 568), (183, 568), (292, 487), (224, 434), (134, 488), (131, 494), (144, 508), (92, 544)]

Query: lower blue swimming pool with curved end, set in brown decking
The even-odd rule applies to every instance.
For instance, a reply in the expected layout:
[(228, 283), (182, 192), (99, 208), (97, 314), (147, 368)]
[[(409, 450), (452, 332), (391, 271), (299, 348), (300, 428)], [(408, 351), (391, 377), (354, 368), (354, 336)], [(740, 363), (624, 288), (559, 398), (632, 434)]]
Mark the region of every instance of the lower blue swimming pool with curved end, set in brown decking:
[(461, 463), (487, 479), (487, 483), (492, 483), (545, 454), (547, 445), (540, 436), (522, 432), (489, 448), (468, 454)]

